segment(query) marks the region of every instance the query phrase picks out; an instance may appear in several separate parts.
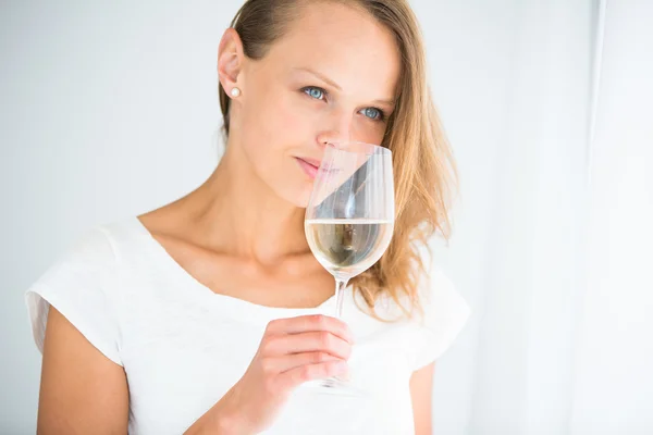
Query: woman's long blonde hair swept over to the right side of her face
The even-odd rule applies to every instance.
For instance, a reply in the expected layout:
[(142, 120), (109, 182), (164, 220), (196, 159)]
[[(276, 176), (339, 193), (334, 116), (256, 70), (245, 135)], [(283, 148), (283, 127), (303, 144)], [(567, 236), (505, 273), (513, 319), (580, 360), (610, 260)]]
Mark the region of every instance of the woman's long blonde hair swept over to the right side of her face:
[[(407, 0), (247, 0), (231, 26), (238, 33), (245, 55), (263, 58), (283, 36), (300, 5), (333, 1), (371, 14), (395, 36), (402, 54), (396, 107), (383, 142), (393, 153), (396, 220), (392, 243), (381, 260), (352, 284), (374, 314), (378, 298), (387, 294), (410, 316), (420, 308), (418, 285), (424, 273), (420, 250), (428, 251), (434, 234), (448, 239), (451, 191), (457, 176), (448, 141), (427, 84), (427, 59), (417, 18)], [(220, 86), (224, 133), (230, 129), (230, 101)], [(408, 300), (411, 307), (406, 307)]]

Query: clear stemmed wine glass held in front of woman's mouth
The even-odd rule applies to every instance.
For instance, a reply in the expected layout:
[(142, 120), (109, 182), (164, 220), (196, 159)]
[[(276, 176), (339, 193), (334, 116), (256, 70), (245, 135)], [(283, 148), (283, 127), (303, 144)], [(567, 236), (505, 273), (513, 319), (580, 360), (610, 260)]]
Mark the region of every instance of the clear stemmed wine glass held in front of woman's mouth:
[[(304, 228), (316, 259), (335, 278), (335, 316), (344, 290), (387, 249), (395, 219), (392, 152), (364, 142), (329, 144), (313, 182)], [(353, 389), (337, 378), (322, 387)], [(323, 389), (323, 388), (322, 388)]]

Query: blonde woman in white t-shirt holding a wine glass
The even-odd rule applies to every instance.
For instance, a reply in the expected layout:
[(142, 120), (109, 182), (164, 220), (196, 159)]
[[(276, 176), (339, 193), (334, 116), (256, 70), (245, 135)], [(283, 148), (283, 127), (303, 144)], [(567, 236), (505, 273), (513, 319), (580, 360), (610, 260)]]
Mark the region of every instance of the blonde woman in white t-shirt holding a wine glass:
[[(214, 173), (93, 228), (27, 294), (39, 433), (430, 434), (433, 361), (468, 309), (418, 251), (446, 235), (452, 165), (407, 1), (249, 0), (218, 75)], [(397, 214), (340, 321), (303, 220), (324, 146), (343, 140), (392, 149)], [(333, 375), (365, 397), (306, 385)]]

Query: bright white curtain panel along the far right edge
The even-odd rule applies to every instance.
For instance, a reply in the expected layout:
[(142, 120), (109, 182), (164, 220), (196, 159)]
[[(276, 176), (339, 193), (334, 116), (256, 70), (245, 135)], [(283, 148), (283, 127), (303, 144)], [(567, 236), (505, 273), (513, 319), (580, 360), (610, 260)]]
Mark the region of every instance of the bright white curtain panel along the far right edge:
[(653, 434), (653, 2), (602, 3), (570, 434)]

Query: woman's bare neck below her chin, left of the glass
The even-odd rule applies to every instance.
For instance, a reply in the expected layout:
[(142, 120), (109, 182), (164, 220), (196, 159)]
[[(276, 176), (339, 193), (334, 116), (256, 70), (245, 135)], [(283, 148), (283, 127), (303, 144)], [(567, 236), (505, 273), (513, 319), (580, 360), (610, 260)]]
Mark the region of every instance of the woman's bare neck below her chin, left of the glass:
[(227, 146), (209, 179), (184, 199), (202, 245), (263, 264), (308, 252), (305, 209), (276, 196), (237, 147)]

